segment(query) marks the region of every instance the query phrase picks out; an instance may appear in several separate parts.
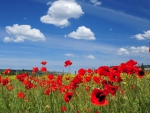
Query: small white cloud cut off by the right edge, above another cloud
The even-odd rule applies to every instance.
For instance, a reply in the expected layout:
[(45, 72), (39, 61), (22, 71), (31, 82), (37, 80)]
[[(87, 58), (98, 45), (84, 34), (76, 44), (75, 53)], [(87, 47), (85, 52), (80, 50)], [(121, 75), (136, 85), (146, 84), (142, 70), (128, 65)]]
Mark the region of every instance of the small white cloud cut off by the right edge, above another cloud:
[(133, 38), (136, 38), (137, 40), (150, 39), (150, 30), (144, 31), (144, 34), (136, 34), (133, 36)]

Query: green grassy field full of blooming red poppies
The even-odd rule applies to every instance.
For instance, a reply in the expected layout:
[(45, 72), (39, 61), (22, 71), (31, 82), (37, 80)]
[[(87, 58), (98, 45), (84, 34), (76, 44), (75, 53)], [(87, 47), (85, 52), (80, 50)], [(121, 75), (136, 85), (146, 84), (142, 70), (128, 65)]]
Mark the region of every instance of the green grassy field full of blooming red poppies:
[(132, 59), (76, 75), (48, 74), (46, 64), (32, 75), (11, 76), (11, 69), (0, 75), (0, 113), (150, 113), (150, 72)]

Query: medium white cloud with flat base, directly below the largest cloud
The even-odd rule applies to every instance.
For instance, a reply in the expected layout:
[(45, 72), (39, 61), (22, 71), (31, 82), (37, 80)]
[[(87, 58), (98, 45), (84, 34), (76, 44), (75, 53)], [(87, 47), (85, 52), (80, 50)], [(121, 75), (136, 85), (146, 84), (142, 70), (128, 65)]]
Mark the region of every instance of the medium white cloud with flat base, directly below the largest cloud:
[(73, 31), (65, 37), (71, 37), (74, 39), (83, 39), (83, 40), (95, 40), (94, 33), (85, 26), (78, 27), (77, 31)]

